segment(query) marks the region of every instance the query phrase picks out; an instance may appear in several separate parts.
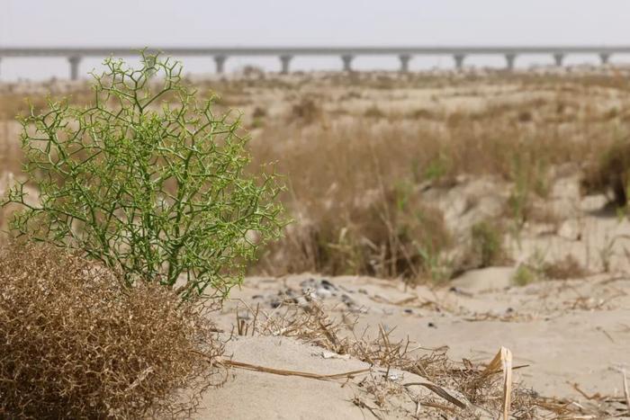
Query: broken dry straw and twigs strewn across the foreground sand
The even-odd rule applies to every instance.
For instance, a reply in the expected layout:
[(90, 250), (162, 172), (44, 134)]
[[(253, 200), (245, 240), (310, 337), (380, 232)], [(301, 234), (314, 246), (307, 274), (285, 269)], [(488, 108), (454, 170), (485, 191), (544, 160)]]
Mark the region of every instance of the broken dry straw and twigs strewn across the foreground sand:
[[(598, 404), (577, 404), (569, 400), (545, 398), (525, 389), (512, 379), (512, 372), (527, 369), (514, 366), (511, 353), (501, 348), (488, 363), (468, 360), (455, 362), (447, 357), (447, 347), (426, 349), (409, 340), (392, 339), (392, 331), (379, 326), (375, 337), (356, 332), (356, 317), (341, 313), (332, 317), (331, 308), (324, 308), (309, 295), (302, 303), (284, 303), (267, 314), (260, 308), (248, 308), (248, 321), (238, 319), (239, 335), (282, 335), (302, 343), (315, 344), (329, 350), (324, 357), (355, 357), (372, 366), (369, 372), (351, 371), (337, 375), (318, 375), (300, 371), (269, 371), (261, 366), (245, 369), (282, 375), (296, 375), (314, 380), (341, 380), (355, 377), (360, 393), (353, 403), (371, 411), (377, 418), (392, 412), (415, 418), (600, 418), (617, 409), (623, 401), (599, 397)], [(238, 363), (235, 367), (239, 367)], [(422, 380), (401, 380), (400, 372), (410, 372)], [(418, 387), (428, 393), (418, 393)], [(508, 418), (507, 416), (504, 418)]]

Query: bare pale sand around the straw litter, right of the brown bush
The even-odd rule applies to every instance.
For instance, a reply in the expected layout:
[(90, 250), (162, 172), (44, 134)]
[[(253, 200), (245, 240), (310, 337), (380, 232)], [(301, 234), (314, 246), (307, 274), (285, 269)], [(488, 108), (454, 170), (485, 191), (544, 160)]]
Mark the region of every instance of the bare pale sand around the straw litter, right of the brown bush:
[[(463, 191), (475, 191), (470, 185), (477, 182), (464, 182), (468, 186)], [(282, 310), (282, 306), (276, 307), (283, 297), (309, 293), (333, 317), (356, 315), (355, 331), (360, 334), (375, 335), (377, 326), (382, 325), (392, 331), (392, 339), (409, 338), (426, 349), (448, 346), (455, 361), (489, 362), (500, 346), (505, 346), (513, 353), (515, 365), (525, 365), (515, 371), (515, 380), (538, 395), (578, 403), (598, 393), (623, 398), (620, 371), (630, 368), (630, 276), (625, 274), (628, 258), (622, 239), (629, 226), (600, 208), (604, 197), (580, 198), (577, 193), (572, 195), (571, 182), (565, 179), (561, 183), (563, 188), (557, 188), (547, 204), (574, 200), (570, 206), (565, 204), (578, 210), (552, 231), (526, 227), (518, 245), (512, 244), (513, 264), (468, 271), (443, 285), (413, 288), (402, 281), (362, 276), (331, 278), (305, 273), (280, 279), (249, 278), (240, 290), (234, 290), (216, 320), (227, 334), (235, 328), (237, 313), (251, 321), (246, 305), (273, 316)], [(492, 191), (497, 197), (501, 195), (500, 188)], [(493, 206), (488, 202), (500, 200), (497, 197), (477, 201), (478, 207), (467, 213), (491, 212)], [(454, 202), (449, 200), (445, 198)], [(447, 219), (448, 215), (446, 211)], [(473, 223), (477, 217), (455, 211), (452, 219)], [(573, 230), (566, 220), (574, 221)], [(616, 237), (619, 240), (611, 241)], [(543, 248), (545, 261), (574, 255), (589, 274), (578, 279), (516, 284), (518, 264), (534, 264), (533, 258)], [(608, 256), (597, 252), (602, 248), (608, 249)], [(608, 273), (604, 273), (602, 259), (607, 258)], [(239, 362), (319, 374), (366, 367), (352, 358), (324, 358), (321, 349), (282, 337), (238, 337), (228, 344), (228, 353)], [(206, 408), (199, 418), (374, 417), (353, 402), (361, 389), (344, 386), (343, 381), (254, 371), (233, 373), (225, 387), (206, 395)], [(411, 374), (403, 372), (405, 375)], [(419, 418), (425, 418), (422, 413)], [(379, 412), (378, 416), (405, 417), (395, 410)]]

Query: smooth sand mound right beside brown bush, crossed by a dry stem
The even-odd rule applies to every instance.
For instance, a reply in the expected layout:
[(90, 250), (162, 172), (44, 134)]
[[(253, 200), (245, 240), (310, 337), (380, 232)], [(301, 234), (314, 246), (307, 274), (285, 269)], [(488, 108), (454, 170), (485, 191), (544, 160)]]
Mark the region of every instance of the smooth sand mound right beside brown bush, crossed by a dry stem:
[[(354, 359), (325, 359), (323, 349), (285, 337), (240, 337), (228, 344), (234, 360), (279, 370), (335, 374), (369, 366)], [(352, 403), (353, 389), (343, 381), (311, 380), (257, 371), (233, 371), (220, 389), (209, 391), (197, 418), (363, 419)]]

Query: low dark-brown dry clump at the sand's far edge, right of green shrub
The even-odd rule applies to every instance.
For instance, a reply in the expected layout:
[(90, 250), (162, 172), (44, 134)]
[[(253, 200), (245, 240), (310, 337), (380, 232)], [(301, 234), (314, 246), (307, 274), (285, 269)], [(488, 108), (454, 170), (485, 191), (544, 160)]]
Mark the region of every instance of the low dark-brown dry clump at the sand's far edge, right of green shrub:
[(312, 202), (309, 210), (319, 206), (322, 219), (287, 229), (269, 247), (269, 270), (369, 273), (413, 281), (431, 277), (441, 251), (451, 244), (441, 212), (403, 187), (372, 193)]

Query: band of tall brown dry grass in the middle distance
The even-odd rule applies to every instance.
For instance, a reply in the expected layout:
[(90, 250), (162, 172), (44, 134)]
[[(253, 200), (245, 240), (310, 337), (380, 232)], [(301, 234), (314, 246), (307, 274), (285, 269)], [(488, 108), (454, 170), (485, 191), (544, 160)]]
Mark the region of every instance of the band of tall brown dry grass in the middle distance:
[(593, 145), (615, 139), (610, 128), (593, 133), (584, 121), (525, 128), (491, 112), (435, 125), (333, 117), (317, 126), (269, 123), (252, 143), (261, 161), (279, 158), (290, 185), (283, 200), (296, 219), (264, 255), (266, 273), (439, 277), (451, 239), (438, 210), (423, 201), (423, 185), (458, 174), (500, 176), (515, 185), (506, 216), (521, 225), (536, 217), (531, 200), (546, 192), (545, 167), (580, 165), (597, 156)]

